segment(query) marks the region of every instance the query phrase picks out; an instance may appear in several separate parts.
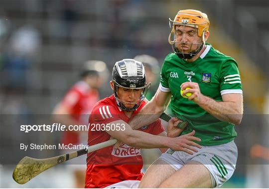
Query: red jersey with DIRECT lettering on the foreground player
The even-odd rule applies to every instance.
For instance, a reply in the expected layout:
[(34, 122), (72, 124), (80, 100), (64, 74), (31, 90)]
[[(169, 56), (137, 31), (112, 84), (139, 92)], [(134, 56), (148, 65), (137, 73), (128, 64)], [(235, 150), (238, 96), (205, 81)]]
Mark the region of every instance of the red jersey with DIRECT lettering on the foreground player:
[[(123, 120), (128, 123), (145, 104), (143, 101), (134, 111), (132, 117), (129, 118), (117, 106), (113, 95), (99, 101), (89, 117), (88, 145), (92, 146), (110, 140), (111, 136), (106, 131), (101, 131), (99, 125), (102, 128), (102, 126), (116, 120)], [(158, 135), (164, 131), (164, 128), (160, 120), (157, 120), (139, 130)], [(141, 180), (143, 159), (140, 150), (140, 148), (133, 148), (124, 144), (117, 150), (110, 146), (89, 153), (87, 156), (85, 188), (105, 188), (126, 180)]]

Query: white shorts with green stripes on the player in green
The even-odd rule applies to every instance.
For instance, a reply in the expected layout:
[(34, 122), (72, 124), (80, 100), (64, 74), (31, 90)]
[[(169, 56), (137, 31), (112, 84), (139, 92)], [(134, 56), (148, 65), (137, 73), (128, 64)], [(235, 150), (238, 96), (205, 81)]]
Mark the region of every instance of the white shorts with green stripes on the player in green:
[(158, 160), (168, 163), (176, 171), (190, 161), (199, 162), (210, 172), (212, 188), (219, 188), (232, 177), (236, 168), (237, 154), (236, 144), (231, 141), (223, 145), (202, 146), (193, 155), (168, 149)]

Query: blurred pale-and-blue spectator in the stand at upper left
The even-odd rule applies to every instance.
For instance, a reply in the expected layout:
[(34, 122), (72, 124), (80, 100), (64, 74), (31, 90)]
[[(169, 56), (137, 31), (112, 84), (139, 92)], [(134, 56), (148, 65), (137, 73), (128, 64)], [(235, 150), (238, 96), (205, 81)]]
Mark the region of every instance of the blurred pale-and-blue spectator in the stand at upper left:
[(31, 25), (22, 26), (11, 35), (7, 54), (3, 58), (4, 86), (25, 87), (26, 71), (40, 43), (38, 30)]

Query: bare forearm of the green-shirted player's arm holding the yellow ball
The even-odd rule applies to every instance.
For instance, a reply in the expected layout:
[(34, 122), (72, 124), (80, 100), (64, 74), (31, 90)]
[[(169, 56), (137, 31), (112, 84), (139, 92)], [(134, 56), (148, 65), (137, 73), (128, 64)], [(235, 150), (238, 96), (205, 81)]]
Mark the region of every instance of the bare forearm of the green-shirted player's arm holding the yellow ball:
[(235, 102), (219, 102), (207, 96), (203, 96), (197, 104), (221, 121), (235, 125), (239, 125), (241, 122), (242, 111), (238, 110)]

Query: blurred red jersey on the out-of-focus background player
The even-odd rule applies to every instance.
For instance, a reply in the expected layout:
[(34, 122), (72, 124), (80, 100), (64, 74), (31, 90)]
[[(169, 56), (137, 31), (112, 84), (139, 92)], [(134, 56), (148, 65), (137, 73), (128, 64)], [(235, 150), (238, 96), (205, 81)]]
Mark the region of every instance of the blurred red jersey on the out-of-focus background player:
[[(80, 124), (87, 125), (88, 115), (98, 100), (98, 92), (96, 90), (90, 90), (86, 82), (79, 81), (67, 92), (61, 103), (71, 109), (70, 114), (76, 121)], [(79, 135), (75, 132), (65, 131), (63, 133), (62, 143), (64, 145), (78, 144)]]

